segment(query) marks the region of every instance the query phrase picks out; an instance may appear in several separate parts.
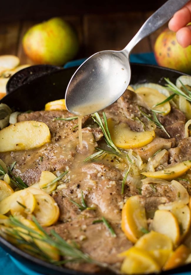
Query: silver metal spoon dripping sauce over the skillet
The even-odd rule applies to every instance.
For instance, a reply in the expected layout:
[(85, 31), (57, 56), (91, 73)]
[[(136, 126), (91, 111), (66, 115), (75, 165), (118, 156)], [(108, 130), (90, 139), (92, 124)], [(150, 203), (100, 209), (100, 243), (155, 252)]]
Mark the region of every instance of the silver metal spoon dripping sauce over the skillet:
[(152, 14), (120, 51), (104, 50), (90, 56), (73, 74), (66, 89), (69, 112), (84, 116), (115, 102), (131, 80), (129, 56), (134, 46), (164, 25), (188, 0), (168, 0)]

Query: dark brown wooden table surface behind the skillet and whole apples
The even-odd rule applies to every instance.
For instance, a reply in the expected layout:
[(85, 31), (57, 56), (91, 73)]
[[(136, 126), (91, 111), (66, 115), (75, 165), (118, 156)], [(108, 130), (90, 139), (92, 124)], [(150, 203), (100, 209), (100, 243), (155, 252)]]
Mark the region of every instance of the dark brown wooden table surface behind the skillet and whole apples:
[[(164, 1), (163, 1), (164, 2)], [(107, 13), (73, 13), (61, 16), (76, 29), (80, 39), (80, 50), (75, 59), (86, 58), (100, 50), (121, 50), (133, 38), (145, 20), (154, 12), (122, 11), (108, 9)], [(1, 10), (2, 12), (2, 10)], [(20, 58), (21, 64), (31, 64), (22, 47), (22, 38), (27, 29), (36, 23), (49, 19), (54, 14), (39, 15), (31, 19), (30, 16), (12, 17), (12, 20), (1, 17), (0, 21), (0, 55), (13, 54)], [(59, 14), (58, 14), (59, 15)], [(59, 15), (60, 16), (60, 15)], [(6, 20), (7, 19), (7, 20)], [(140, 41), (132, 53), (152, 52), (159, 33), (167, 26), (163, 26), (151, 36)]]

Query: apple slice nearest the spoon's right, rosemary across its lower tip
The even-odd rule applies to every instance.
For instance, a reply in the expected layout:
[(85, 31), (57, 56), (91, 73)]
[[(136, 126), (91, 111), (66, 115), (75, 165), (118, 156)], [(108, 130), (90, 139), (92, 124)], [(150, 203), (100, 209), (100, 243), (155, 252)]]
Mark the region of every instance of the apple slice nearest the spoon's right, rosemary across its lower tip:
[(167, 97), (161, 94), (158, 90), (149, 87), (140, 87), (135, 90), (135, 93), (137, 93), (143, 99), (143, 101), (150, 109), (161, 112), (163, 115), (166, 115), (170, 112), (171, 107), (168, 101), (155, 106), (167, 99)]

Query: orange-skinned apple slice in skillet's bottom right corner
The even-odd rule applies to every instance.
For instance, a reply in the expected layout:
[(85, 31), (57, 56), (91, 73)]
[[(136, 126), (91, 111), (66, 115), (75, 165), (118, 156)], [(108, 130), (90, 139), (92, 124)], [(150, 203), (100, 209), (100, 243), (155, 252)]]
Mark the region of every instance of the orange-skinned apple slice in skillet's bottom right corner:
[(169, 270), (185, 263), (187, 257), (190, 255), (190, 248), (185, 246), (185, 244), (180, 244), (175, 251), (170, 255), (169, 259), (163, 266), (163, 270)]

